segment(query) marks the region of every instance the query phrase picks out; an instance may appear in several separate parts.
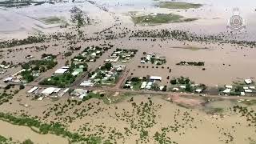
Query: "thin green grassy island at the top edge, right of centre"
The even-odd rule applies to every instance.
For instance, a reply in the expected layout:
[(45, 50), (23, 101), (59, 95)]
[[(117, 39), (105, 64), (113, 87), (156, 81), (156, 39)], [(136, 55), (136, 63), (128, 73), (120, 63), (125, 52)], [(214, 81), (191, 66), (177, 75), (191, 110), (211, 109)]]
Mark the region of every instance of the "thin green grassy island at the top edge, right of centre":
[(160, 8), (166, 9), (197, 9), (202, 6), (202, 4), (194, 4), (194, 3), (187, 3), (187, 2), (159, 2), (158, 6)]

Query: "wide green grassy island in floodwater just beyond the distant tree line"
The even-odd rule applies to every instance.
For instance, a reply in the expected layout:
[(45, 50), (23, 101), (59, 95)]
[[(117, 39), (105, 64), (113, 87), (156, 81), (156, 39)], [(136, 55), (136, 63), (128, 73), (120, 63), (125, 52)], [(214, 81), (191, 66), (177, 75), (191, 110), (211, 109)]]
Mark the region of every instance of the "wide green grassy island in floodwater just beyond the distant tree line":
[(132, 16), (135, 24), (149, 23), (149, 24), (162, 24), (162, 23), (174, 23), (174, 22), (191, 22), (197, 20), (197, 18), (184, 18), (177, 14), (156, 14), (156, 15), (142, 15)]

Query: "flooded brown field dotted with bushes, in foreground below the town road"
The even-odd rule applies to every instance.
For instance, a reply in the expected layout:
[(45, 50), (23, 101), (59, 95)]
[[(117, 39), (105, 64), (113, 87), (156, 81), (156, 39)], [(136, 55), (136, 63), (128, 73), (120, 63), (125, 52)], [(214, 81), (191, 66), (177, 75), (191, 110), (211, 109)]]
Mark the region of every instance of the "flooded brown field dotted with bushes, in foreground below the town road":
[[(16, 118), (3, 117), (0, 122), (8, 130), (15, 125), (17, 134), (30, 131), (26, 137), (0, 130), (0, 135), (16, 141), (30, 139), (32, 142), (94, 142), (94, 143), (250, 143), (254, 142), (254, 116), (242, 114), (237, 106), (248, 106), (248, 111), (255, 110), (255, 105), (246, 105), (237, 100), (223, 100), (222, 98), (180, 97), (166, 95), (138, 95), (138, 94), (105, 94), (106, 99), (116, 99), (105, 103), (96, 98), (86, 101), (62, 98), (54, 101), (28, 101), (29, 107), (18, 105), (25, 102), (12, 101), (15, 105), (9, 110), (6, 103), (1, 111), (16, 112)], [(119, 99), (119, 100), (117, 100)], [(47, 103), (47, 106), (44, 106)], [(39, 105), (38, 105), (39, 104)], [(44, 107), (42, 107), (44, 106)], [(40, 107), (40, 108), (39, 108)], [(76, 137), (66, 135), (61, 127), (54, 124), (53, 128), (34, 125), (29, 118), (22, 122), (25, 115), (34, 117), (36, 121), (45, 123), (59, 122), (65, 133), (77, 134)], [(254, 111), (250, 111), (254, 114)], [(23, 115), (22, 117), (20, 115)], [(244, 116), (243, 116), (244, 115)], [(7, 119), (8, 118), (8, 119)], [(27, 118), (27, 117), (26, 117)], [(251, 121), (248, 121), (248, 118)], [(36, 122), (34, 122), (36, 123)], [(58, 128), (59, 127), (59, 128)], [(60, 129), (60, 130), (58, 130)], [(41, 132), (38, 132), (41, 131)], [(210, 130), (210, 131), (209, 131)], [(63, 132), (62, 132), (63, 131)], [(39, 133), (39, 134), (38, 134)], [(50, 133), (50, 134), (48, 134)], [(46, 135), (45, 135), (46, 134)], [(59, 138), (52, 134), (60, 134)], [(200, 138), (194, 138), (200, 135)], [(83, 137), (82, 137), (83, 136)], [(89, 138), (86, 140), (86, 138)], [(65, 142), (66, 141), (66, 142)]]

